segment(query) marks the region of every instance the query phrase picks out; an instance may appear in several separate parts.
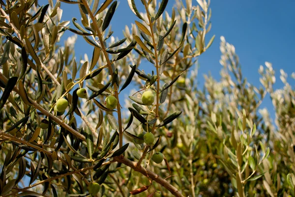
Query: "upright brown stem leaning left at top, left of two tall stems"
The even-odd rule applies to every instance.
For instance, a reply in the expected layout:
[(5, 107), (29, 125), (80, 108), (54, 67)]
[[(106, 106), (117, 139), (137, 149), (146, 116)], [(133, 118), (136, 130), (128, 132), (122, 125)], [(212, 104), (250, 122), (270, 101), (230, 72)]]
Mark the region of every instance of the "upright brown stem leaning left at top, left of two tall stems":
[[(86, 0), (82, 0), (84, 6), (86, 7), (88, 13), (89, 13), (89, 16), (93, 22), (93, 25), (94, 25), (94, 28), (95, 28), (95, 31), (96, 31), (96, 34), (99, 38), (99, 42), (100, 42), (100, 45), (101, 45), (101, 50), (107, 60), (107, 63), (108, 63), (108, 67), (109, 67), (109, 70), (110, 70), (110, 73), (111, 73), (111, 76), (113, 77), (113, 68), (112, 68), (112, 63), (109, 59), (109, 56), (107, 54), (107, 51), (106, 51), (106, 47), (104, 46), (104, 42), (103, 42), (103, 38), (102, 38), (102, 34), (100, 32), (100, 29), (97, 25), (97, 21), (96, 21), (96, 18), (94, 17), (93, 13), (91, 12), (90, 8), (89, 8), (89, 5), (87, 3)], [(123, 129), (122, 129), (122, 117), (121, 117), (121, 109), (120, 109), (120, 103), (119, 103), (119, 95), (118, 95), (118, 90), (117, 90), (117, 85), (114, 84), (114, 88), (115, 88), (115, 97), (117, 98), (118, 100), (118, 104), (117, 104), (117, 110), (118, 110), (118, 125), (119, 125), (119, 147), (122, 147), (123, 145)]]

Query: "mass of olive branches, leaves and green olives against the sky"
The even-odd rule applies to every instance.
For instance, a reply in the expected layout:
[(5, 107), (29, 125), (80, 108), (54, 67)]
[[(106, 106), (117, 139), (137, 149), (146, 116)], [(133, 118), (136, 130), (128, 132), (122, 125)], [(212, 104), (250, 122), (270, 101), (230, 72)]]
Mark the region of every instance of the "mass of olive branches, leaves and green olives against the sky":
[[(294, 86), (281, 70), (274, 90), (269, 62), (262, 86), (248, 83), (221, 37), (221, 80), (200, 89), (197, 57), (214, 36), (210, 1), (197, 2), (128, 0), (137, 20), (111, 39), (116, 0), (0, 0), (1, 196), (294, 196)], [(79, 6), (72, 22), (64, 3)], [(77, 36), (91, 58), (77, 60)]]

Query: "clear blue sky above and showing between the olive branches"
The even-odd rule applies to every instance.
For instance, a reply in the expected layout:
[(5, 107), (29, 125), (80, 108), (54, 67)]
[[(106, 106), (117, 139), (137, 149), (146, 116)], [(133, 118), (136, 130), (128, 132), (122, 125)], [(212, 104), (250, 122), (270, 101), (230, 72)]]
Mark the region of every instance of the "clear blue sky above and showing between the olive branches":
[[(140, 0), (137, 1), (137, 4), (141, 4)], [(115, 31), (113, 35), (121, 39), (125, 24), (131, 27), (130, 24), (137, 18), (131, 12), (127, 0), (118, 0), (118, 2), (119, 6), (111, 25)], [(174, 0), (169, 0), (167, 10), (171, 10), (173, 4)], [(196, 4), (197, 1), (193, 0), (193, 5)], [(210, 7), (212, 28), (208, 39), (213, 34), (216, 37), (209, 50), (199, 58), (198, 80), (201, 83), (204, 82), (203, 74), (209, 72), (214, 78), (220, 78), (219, 72), (222, 66), (219, 64), (221, 55), (219, 42), (220, 36), (223, 35), (227, 42), (235, 46), (242, 72), (251, 84), (260, 85), (258, 68), (264, 65), (265, 61), (269, 61), (276, 71), (275, 87), (283, 85), (279, 79), (281, 68), (288, 74), (289, 83), (294, 86), (294, 80), (289, 76), (295, 72), (295, 0), (211, 0)], [(61, 9), (63, 9), (63, 20), (80, 18), (77, 5), (61, 3)], [(71, 24), (71, 27), (74, 26)], [(71, 34), (66, 33), (65, 36)], [(75, 50), (77, 58), (84, 53), (88, 54), (89, 59), (92, 56), (92, 47), (89, 47), (81, 36), (78, 36)], [(264, 102), (264, 106), (270, 111), (273, 110), (269, 98)]]

